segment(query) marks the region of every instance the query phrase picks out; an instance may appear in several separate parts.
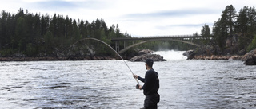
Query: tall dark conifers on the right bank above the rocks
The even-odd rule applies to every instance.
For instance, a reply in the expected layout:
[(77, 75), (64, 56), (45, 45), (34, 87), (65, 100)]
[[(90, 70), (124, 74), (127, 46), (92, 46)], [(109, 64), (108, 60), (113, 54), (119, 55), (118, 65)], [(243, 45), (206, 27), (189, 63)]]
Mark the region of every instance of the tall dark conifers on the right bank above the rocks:
[(234, 48), (233, 53), (239, 50), (250, 52), (256, 48), (256, 10), (254, 7), (244, 6), (237, 11), (230, 5), (222, 11), (221, 18), (214, 22), (212, 33), (209, 25), (204, 25), (202, 36), (214, 36), (212, 40), (221, 49)]

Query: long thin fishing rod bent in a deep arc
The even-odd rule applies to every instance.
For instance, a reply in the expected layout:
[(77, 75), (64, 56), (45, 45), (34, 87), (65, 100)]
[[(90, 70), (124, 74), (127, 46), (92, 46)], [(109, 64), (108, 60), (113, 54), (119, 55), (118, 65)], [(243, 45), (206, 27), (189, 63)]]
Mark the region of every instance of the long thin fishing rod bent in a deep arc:
[[(132, 70), (130, 69), (129, 65), (126, 63), (126, 61), (123, 60), (122, 56), (120, 56), (120, 54), (119, 54), (117, 51), (115, 51), (110, 45), (106, 44), (106, 42), (101, 41), (101, 40), (98, 40), (98, 39), (96, 39), (96, 38), (83, 38), (83, 39), (81, 39), (81, 40), (79, 40), (79, 41), (83, 41), (83, 40), (100, 41), (100, 42), (102, 42), (103, 44), (105, 44), (105, 45), (107, 45), (108, 47), (110, 47), (110, 49), (112, 49), (116, 54), (118, 54), (118, 56), (122, 59), (122, 61), (123, 61), (123, 62), (126, 64), (126, 66), (129, 68), (131, 74), (133, 74), (133, 76), (134, 76), (134, 72), (132, 72)], [(73, 45), (75, 45), (75, 44), (78, 43), (79, 41), (76, 41)], [(70, 47), (71, 47), (71, 46), (72, 46), (72, 45), (70, 45)], [(67, 49), (69, 49), (70, 47), (68, 47)], [(66, 49), (65, 49), (64, 51), (66, 51)], [(135, 79), (136, 82), (138, 83), (138, 80), (137, 80), (136, 78), (134, 78), (134, 79)], [(139, 84), (139, 83), (138, 83), (138, 84)]]

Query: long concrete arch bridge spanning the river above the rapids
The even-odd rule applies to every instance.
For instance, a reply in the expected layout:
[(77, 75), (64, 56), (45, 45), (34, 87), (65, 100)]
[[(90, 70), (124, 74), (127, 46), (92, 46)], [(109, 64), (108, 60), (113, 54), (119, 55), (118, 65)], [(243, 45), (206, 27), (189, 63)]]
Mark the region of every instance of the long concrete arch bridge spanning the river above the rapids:
[[(203, 39), (203, 38), (211, 38), (211, 37), (202, 37), (198, 35), (176, 35), (176, 36), (150, 36), (150, 37), (122, 37), (122, 38), (114, 38), (111, 39), (112, 42), (114, 42), (114, 49), (120, 54), (126, 52), (126, 50), (136, 46), (141, 45), (143, 43), (149, 42), (149, 41), (179, 41), (186, 44), (199, 46), (198, 44), (195, 44), (192, 42), (194, 39)], [(123, 47), (124, 49), (119, 48), (119, 42), (123, 41)], [(127, 46), (127, 41), (133, 41), (132, 45)], [(134, 43), (134, 41), (140, 41), (138, 43)]]

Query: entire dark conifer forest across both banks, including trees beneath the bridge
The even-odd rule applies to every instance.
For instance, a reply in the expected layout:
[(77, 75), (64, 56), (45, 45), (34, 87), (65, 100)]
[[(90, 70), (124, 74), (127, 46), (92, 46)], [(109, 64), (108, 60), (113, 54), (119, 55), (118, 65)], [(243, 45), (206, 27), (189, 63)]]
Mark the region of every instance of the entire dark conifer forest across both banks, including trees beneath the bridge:
[[(249, 52), (256, 48), (256, 10), (254, 7), (244, 6), (237, 13), (230, 5), (222, 11), (221, 18), (214, 22), (210, 29), (209, 25), (202, 25), (200, 34), (206, 37), (198, 41), (202, 45), (213, 43), (221, 49), (230, 48), (227, 40), (236, 41), (232, 45), (233, 53), (244, 49)], [(17, 14), (10, 14), (2, 10), (0, 14), (0, 56), (58, 56), (70, 45), (86, 38), (93, 37), (105, 41), (109, 45), (111, 38), (131, 37), (128, 33), (121, 33), (117, 25), (108, 27), (103, 19), (84, 21), (83, 19), (72, 19), (54, 14), (31, 14), (28, 10), (24, 12), (19, 9)], [(213, 37), (212, 39), (207, 37)], [(81, 46), (93, 48), (94, 54), (82, 53), (96, 56), (113, 56), (113, 51), (107, 49), (106, 45), (94, 41), (86, 41)], [(120, 44), (122, 48), (122, 44)], [(157, 46), (156, 46), (157, 45)], [(174, 41), (153, 41), (144, 45), (138, 45), (135, 49), (194, 49), (193, 46)], [(88, 51), (88, 50), (87, 50)], [(77, 49), (77, 53), (79, 50)], [(129, 53), (129, 51), (128, 51)], [(64, 54), (65, 55), (65, 54)]]

